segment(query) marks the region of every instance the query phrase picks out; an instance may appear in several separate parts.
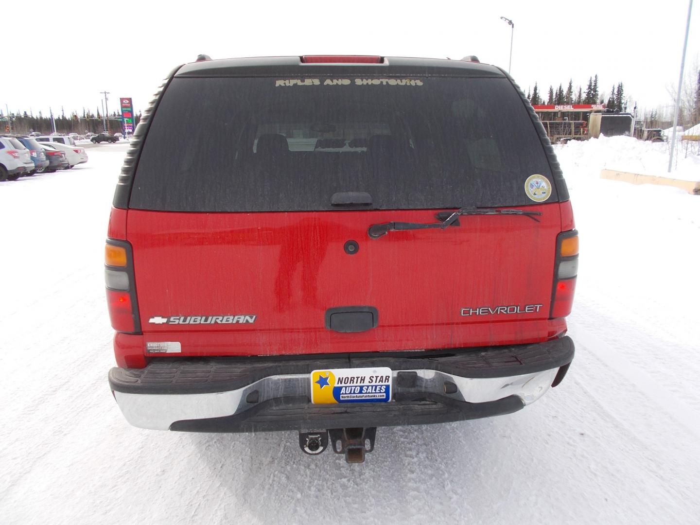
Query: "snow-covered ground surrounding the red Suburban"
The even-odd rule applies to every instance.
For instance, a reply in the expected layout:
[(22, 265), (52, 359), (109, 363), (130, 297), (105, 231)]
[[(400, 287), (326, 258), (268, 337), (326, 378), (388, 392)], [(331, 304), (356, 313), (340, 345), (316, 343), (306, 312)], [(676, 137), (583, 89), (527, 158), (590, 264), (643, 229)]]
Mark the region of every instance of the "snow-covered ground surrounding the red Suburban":
[(363, 465), (304, 456), (290, 432), (123, 419), (102, 258), (126, 147), (0, 184), (3, 525), (698, 522), (700, 197), (598, 178), (654, 145), (558, 150), (581, 239), (561, 386), (507, 416), (381, 428)]

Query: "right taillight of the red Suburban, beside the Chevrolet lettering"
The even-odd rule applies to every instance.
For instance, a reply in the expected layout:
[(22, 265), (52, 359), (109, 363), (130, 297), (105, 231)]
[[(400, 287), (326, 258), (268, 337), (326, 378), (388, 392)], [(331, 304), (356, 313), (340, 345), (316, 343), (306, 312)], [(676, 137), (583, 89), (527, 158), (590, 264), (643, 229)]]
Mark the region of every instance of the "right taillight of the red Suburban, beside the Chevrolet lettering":
[(550, 318), (566, 317), (571, 313), (578, 274), (578, 232), (561, 232), (556, 237), (554, 289)]

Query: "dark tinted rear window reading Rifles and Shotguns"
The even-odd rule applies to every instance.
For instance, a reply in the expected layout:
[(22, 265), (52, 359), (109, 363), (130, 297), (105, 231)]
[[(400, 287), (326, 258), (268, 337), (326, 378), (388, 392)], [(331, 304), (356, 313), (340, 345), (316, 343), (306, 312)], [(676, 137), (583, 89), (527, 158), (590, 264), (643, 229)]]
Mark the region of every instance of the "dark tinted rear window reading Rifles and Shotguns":
[[(174, 78), (130, 207), (167, 211), (533, 204), (549, 164), (506, 78)], [(548, 202), (556, 200), (556, 190)]]

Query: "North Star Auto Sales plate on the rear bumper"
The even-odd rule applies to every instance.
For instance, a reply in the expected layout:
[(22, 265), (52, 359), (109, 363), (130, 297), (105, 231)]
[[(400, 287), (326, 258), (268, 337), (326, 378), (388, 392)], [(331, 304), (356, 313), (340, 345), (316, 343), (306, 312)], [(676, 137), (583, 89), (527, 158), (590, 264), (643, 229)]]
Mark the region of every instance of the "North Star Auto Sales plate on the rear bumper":
[(390, 368), (335, 368), (311, 372), (311, 402), (330, 404), (390, 400)]

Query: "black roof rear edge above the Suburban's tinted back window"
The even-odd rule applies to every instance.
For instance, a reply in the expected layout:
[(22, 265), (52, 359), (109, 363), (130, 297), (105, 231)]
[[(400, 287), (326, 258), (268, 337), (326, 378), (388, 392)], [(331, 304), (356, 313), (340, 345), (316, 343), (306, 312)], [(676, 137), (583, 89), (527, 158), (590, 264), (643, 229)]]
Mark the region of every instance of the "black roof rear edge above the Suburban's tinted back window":
[(383, 57), (381, 64), (304, 64), (299, 56), (227, 58), (192, 62), (181, 66), (175, 76), (309, 76), (311, 74), (334, 76), (339, 73), (371, 76), (505, 77), (505, 73), (496, 66), (463, 60)]

